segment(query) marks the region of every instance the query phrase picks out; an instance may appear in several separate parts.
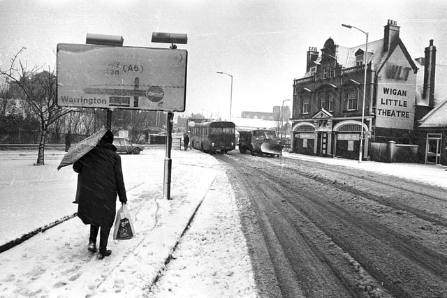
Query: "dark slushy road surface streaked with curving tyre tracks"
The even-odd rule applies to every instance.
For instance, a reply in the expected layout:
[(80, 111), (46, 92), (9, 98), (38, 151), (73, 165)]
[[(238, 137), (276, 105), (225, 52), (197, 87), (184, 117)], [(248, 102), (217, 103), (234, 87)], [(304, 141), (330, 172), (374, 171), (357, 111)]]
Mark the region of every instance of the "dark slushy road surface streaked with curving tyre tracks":
[(286, 158), (220, 159), (251, 202), (284, 296), (295, 288), (306, 297), (447, 295), (445, 211), (435, 210), (446, 207), (441, 188), (413, 192), (402, 179), (378, 186), (390, 177)]

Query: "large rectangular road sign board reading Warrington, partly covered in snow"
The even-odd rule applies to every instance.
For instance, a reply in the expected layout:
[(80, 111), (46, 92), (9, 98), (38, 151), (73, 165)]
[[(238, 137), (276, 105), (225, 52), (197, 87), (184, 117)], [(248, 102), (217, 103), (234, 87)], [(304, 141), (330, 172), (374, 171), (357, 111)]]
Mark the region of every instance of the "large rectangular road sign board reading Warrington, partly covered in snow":
[(57, 104), (184, 112), (187, 57), (177, 49), (59, 43)]

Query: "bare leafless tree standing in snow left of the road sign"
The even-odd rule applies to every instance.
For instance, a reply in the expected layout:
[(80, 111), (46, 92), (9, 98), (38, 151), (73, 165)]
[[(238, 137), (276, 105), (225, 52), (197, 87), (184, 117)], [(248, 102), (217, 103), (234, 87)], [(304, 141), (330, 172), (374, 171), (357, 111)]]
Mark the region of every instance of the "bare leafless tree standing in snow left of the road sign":
[(42, 71), (43, 68), (37, 66), (29, 69), (27, 64), (22, 64), (22, 61), (18, 59), (23, 50), (24, 48), (11, 59), (8, 70), (0, 69), (0, 75), (15, 83), (22, 99), (31, 107), (40, 122), (41, 137), (37, 162), (34, 165), (45, 165), (45, 140), (48, 128), (59, 117), (70, 113), (71, 110), (63, 109), (57, 105), (57, 78), (54, 69), (48, 67), (47, 70)]

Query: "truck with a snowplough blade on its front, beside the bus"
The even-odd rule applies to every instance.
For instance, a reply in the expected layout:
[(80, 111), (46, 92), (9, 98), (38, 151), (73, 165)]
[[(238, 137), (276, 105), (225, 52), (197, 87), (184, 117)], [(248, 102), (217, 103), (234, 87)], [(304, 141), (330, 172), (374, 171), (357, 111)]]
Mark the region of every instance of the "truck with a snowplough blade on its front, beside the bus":
[(276, 133), (271, 129), (254, 129), (251, 131), (239, 131), (237, 142), (240, 153), (250, 151), (251, 155), (282, 155), (282, 144)]

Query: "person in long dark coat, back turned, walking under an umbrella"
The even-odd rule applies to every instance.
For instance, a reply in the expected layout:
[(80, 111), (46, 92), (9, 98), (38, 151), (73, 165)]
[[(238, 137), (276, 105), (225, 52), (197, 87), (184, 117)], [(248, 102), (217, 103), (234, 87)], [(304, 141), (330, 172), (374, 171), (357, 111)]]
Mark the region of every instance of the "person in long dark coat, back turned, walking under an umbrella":
[(87, 250), (96, 252), (96, 238), (100, 232), (98, 260), (112, 253), (107, 249), (108, 237), (115, 221), (117, 195), (126, 204), (121, 157), (112, 144), (113, 133), (106, 131), (94, 149), (73, 163), (78, 179), (78, 217), (90, 225)]

